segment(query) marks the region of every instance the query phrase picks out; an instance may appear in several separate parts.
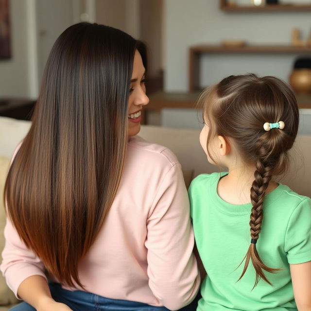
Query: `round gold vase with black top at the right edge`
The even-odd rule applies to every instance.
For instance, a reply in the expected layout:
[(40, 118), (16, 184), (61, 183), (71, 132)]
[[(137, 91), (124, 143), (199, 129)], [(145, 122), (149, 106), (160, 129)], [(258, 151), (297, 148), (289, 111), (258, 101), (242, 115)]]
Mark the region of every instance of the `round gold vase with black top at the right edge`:
[(311, 57), (296, 59), (290, 84), (297, 94), (311, 94)]

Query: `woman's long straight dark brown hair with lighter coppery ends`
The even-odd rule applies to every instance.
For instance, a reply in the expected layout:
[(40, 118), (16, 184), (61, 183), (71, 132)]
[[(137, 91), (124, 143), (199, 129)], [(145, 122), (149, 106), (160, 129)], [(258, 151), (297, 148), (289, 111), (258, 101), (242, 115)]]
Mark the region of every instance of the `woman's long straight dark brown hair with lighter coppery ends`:
[(8, 215), (49, 273), (81, 284), (80, 260), (104, 224), (127, 145), (134, 53), (144, 45), (112, 27), (79, 23), (56, 40), (32, 126), (8, 173)]

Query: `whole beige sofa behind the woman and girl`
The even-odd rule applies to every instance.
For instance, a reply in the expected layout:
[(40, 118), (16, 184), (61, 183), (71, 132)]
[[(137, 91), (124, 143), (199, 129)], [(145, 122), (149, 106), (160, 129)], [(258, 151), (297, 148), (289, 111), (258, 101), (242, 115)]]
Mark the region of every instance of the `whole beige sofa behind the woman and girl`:
[[(20, 121), (0, 117), (0, 195), (8, 172), (10, 158), (19, 141), (30, 128), (30, 121)], [(211, 173), (217, 167), (207, 162), (207, 157), (199, 143), (199, 130), (173, 129), (158, 126), (141, 126), (139, 135), (146, 140), (169, 147), (177, 155), (182, 168), (185, 183), (189, 186), (193, 177), (200, 173)], [(288, 172), (279, 181), (296, 192), (311, 197), (311, 136), (298, 136), (290, 152), (291, 165)], [(0, 252), (4, 246), (3, 228), (5, 212), (3, 200), (0, 201)], [(10, 309), (17, 299), (8, 289), (0, 275), (0, 311)]]

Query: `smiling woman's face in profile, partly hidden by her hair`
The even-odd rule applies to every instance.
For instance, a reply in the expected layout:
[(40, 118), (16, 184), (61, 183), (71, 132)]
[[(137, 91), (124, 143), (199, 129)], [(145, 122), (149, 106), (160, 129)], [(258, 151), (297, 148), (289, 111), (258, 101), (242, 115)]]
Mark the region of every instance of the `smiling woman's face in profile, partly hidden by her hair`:
[(135, 52), (128, 100), (128, 136), (138, 134), (140, 130), (141, 109), (149, 103), (145, 87), (145, 68), (138, 51)]

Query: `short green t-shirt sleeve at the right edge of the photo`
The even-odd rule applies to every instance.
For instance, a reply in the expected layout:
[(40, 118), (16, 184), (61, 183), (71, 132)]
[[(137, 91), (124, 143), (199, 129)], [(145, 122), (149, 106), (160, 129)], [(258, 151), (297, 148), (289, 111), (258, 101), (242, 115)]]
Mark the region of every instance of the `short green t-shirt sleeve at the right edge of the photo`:
[(304, 199), (293, 211), (286, 229), (284, 250), (290, 264), (311, 260), (311, 199)]

